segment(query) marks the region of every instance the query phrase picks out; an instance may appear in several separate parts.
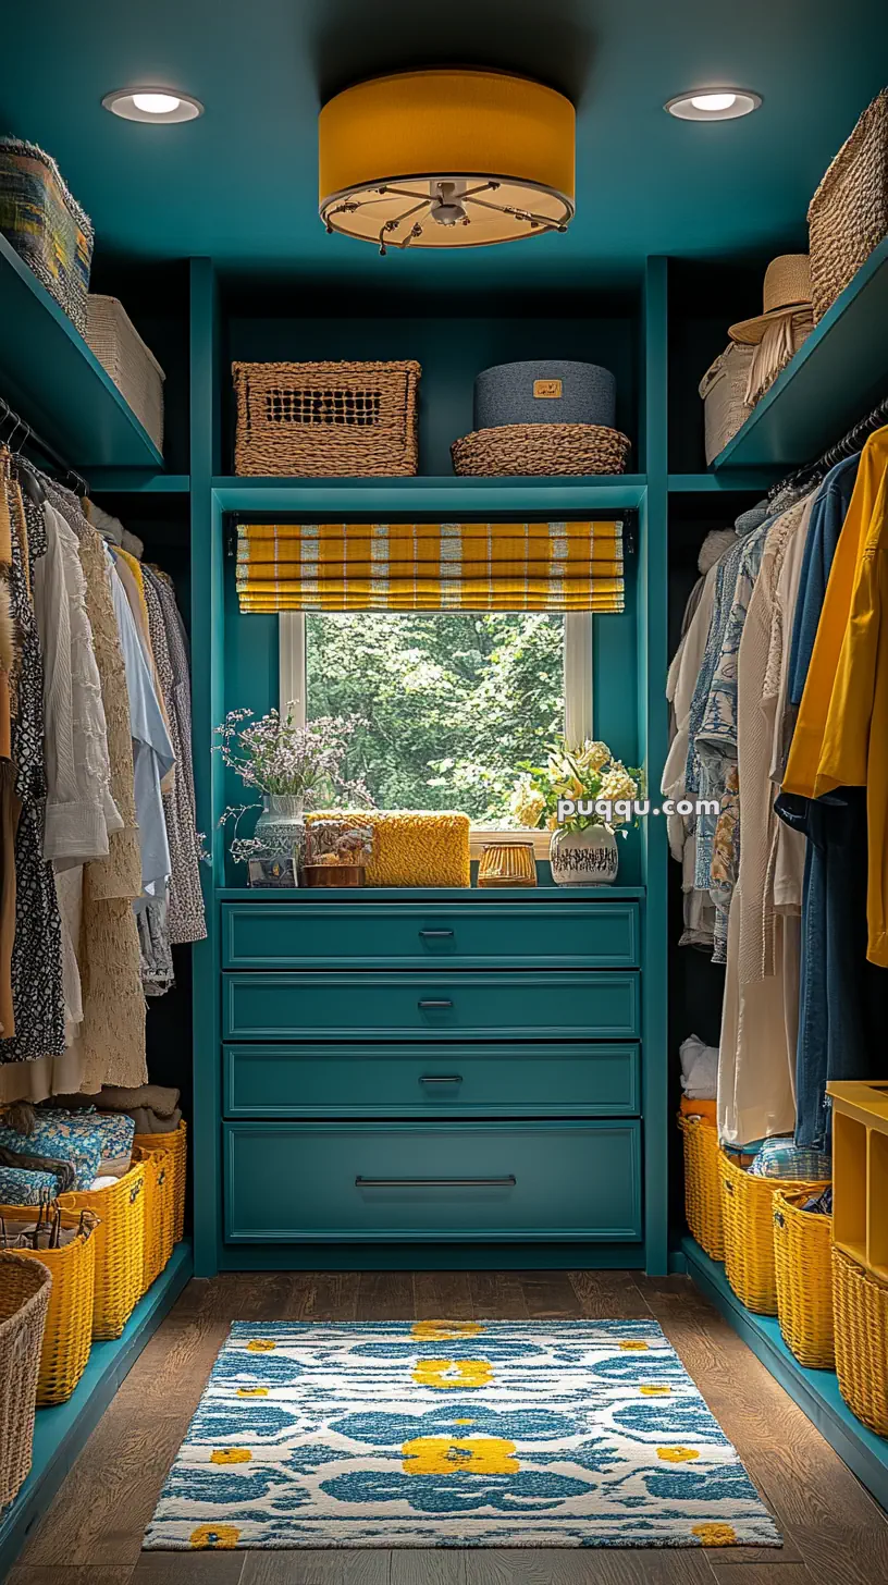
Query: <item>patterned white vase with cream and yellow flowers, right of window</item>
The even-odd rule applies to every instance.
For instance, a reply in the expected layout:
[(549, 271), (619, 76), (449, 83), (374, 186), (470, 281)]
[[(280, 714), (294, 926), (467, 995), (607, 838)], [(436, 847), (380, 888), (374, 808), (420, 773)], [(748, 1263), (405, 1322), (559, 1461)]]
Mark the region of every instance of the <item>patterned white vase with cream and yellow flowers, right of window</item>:
[(523, 764), (509, 810), (522, 826), (550, 831), (557, 886), (612, 886), (620, 869), (617, 831), (636, 823), (641, 770), (628, 770), (607, 743), (571, 747), (558, 737), (545, 766)]

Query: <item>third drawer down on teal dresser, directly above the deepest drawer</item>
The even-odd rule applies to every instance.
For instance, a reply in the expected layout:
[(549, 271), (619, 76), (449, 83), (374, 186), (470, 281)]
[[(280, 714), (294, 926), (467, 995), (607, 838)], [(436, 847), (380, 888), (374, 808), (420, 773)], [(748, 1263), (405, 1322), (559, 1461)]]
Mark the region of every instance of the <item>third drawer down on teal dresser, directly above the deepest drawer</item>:
[(225, 1046), (227, 1117), (631, 1117), (633, 1045)]

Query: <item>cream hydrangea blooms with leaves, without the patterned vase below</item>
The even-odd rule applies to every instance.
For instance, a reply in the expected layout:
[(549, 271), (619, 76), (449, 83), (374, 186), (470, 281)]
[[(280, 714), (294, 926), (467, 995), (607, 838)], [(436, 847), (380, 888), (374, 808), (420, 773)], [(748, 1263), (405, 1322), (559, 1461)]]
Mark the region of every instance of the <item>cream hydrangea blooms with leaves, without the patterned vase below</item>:
[[(549, 750), (545, 766), (525, 762), (519, 766), (519, 772), (509, 812), (520, 826), (536, 831), (622, 826), (625, 835), (625, 827), (636, 824), (636, 816), (626, 805), (642, 794), (642, 772), (615, 759), (607, 743), (587, 739), (579, 747), (571, 747), (565, 737), (558, 737)], [(565, 804), (572, 805), (574, 812), (565, 813)], [(607, 805), (607, 812), (601, 805)], [(617, 810), (615, 805), (623, 808)]]

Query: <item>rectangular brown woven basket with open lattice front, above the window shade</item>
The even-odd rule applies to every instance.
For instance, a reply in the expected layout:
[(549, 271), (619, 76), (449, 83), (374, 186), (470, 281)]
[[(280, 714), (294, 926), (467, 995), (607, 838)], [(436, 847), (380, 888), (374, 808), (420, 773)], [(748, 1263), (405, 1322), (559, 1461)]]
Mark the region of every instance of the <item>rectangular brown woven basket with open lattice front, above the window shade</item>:
[(415, 474), (419, 363), (233, 363), (235, 472)]

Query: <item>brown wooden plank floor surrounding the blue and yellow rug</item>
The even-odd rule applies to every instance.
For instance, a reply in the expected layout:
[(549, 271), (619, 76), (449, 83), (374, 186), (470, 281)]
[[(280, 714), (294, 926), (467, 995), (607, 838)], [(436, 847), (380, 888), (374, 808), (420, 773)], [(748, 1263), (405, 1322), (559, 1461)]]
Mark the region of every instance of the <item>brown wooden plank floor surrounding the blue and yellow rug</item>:
[[(737, 1447), (780, 1552), (141, 1552), (238, 1320), (649, 1319)], [(614, 1271), (284, 1273), (192, 1282), (94, 1431), (11, 1585), (885, 1585), (888, 1517), (688, 1278)]]

